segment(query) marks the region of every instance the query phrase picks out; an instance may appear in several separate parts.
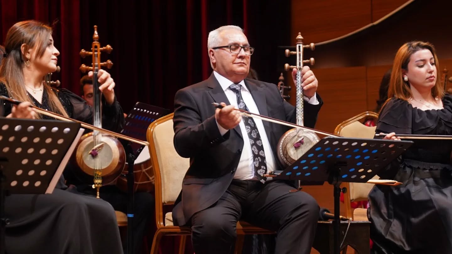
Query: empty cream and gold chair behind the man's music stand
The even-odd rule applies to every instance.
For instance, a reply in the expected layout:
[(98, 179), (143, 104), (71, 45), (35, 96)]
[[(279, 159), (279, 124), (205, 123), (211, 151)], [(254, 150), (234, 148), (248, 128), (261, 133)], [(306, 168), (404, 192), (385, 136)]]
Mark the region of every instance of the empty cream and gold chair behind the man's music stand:
[[(373, 138), (375, 136), (374, 127), (368, 127), (364, 125), (360, 120), (363, 118), (378, 118), (378, 114), (375, 112), (367, 111), (361, 113), (353, 118), (345, 120), (340, 123), (334, 130), (334, 134), (344, 137), (358, 137), (358, 138)], [(373, 179), (378, 179), (378, 176), (374, 176)], [(344, 187), (348, 189), (344, 195), (344, 203), (346, 207), (347, 217), (353, 216), (350, 202), (367, 200), (367, 195), (373, 187), (371, 183), (344, 183)]]

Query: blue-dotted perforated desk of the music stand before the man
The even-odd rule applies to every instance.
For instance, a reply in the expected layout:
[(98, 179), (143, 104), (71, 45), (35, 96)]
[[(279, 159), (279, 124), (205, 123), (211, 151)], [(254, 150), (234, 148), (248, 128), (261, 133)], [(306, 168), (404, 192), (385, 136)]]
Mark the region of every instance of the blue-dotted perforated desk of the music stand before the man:
[[(339, 142), (336, 142), (338, 140)], [(383, 142), (386, 146), (380, 146)], [(399, 143), (391, 148), (388, 147), (395, 142)], [(293, 174), (287, 171), (281, 177), (301, 181), (318, 181), (318, 179), (326, 181), (334, 163), (343, 161), (347, 165), (341, 168), (342, 174), (339, 175), (341, 181), (365, 183), (378, 173), (376, 169), (382, 167), (383, 160), (391, 162), (410, 145), (410, 142), (405, 141), (326, 137), (289, 168)], [(385, 151), (387, 152), (383, 153)], [(317, 158), (321, 159), (312, 160)]]

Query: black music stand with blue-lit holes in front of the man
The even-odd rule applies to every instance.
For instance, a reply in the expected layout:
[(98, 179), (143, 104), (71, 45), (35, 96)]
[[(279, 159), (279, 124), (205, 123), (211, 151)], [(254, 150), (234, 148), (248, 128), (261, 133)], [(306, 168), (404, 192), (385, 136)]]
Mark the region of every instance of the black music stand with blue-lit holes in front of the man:
[(366, 183), (412, 144), (413, 141), (324, 137), (275, 179), (300, 180), (304, 185), (321, 181), (334, 186), (334, 253), (339, 254), (339, 185)]

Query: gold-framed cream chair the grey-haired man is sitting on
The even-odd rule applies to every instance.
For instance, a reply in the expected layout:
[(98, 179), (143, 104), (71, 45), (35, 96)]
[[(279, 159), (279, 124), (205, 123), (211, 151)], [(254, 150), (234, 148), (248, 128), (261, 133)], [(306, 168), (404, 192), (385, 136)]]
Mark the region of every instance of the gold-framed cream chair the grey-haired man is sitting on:
[[(157, 230), (152, 241), (151, 254), (159, 251), (163, 235), (180, 235), (179, 254), (184, 253), (187, 235), (191, 235), (188, 226), (174, 226), (172, 213), (163, 214), (163, 206), (174, 204), (182, 188), (182, 179), (189, 166), (189, 159), (179, 156), (173, 145), (173, 116), (171, 113), (151, 123), (147, 130), (149, 153), (155, 175), (155, 222)], [(237, 222), (237, 241), (235, 253), (241, 254), (243, 239), (246, 234), (274, 234), (270, 230), (239, 221)]]

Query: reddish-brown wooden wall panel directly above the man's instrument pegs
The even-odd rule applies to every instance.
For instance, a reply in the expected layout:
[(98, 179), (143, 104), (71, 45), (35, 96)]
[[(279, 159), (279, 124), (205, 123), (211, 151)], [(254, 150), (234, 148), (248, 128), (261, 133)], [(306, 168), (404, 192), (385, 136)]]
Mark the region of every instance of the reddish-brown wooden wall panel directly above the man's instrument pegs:
[(371, 23), (371, 1), (292, 0), (291, 15), (291, 34), (300, 32), (305, 42), (322, 42)]

